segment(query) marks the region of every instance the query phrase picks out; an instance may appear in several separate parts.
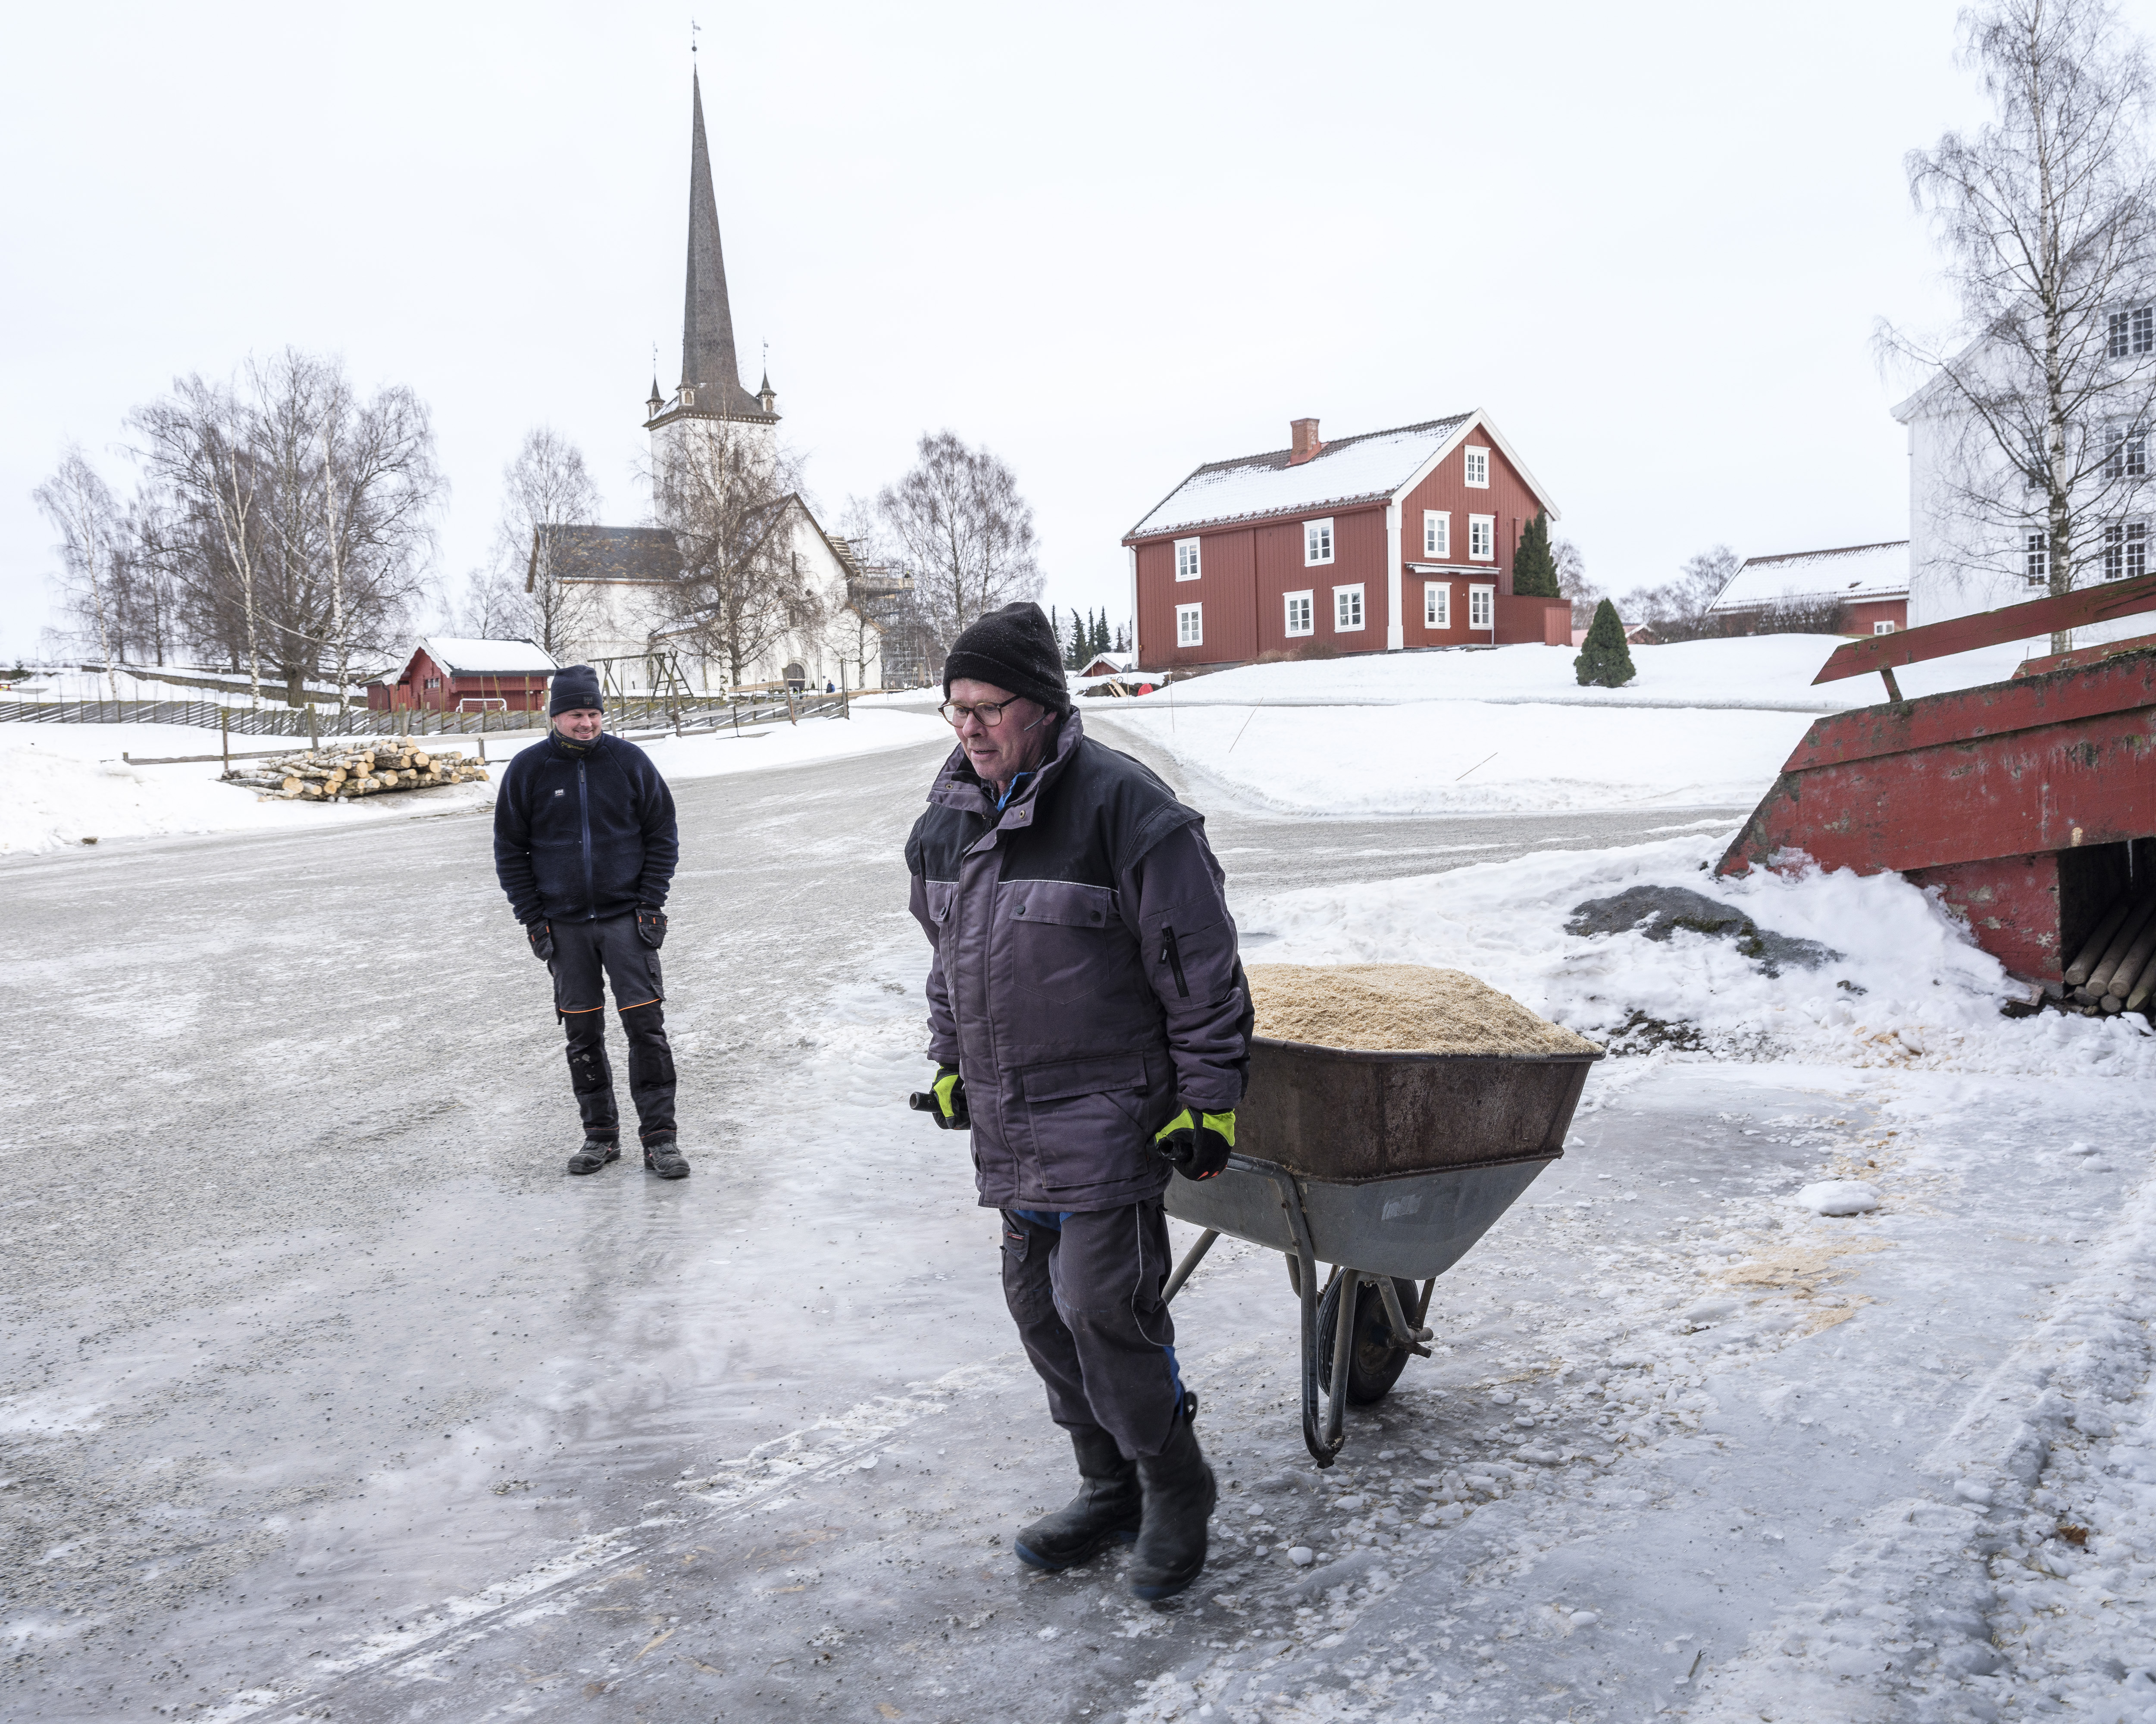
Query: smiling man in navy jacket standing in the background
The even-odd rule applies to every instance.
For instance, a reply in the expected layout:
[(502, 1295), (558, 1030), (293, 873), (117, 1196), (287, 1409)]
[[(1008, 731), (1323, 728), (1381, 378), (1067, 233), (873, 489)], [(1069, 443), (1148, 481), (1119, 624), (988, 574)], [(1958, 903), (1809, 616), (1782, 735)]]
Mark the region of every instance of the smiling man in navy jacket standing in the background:
[(569, 1088), (584, 1116), (584, 1144), (569, 1157), (569, 1172), (621, 1159), (604, 974), (630, 1039), (630, 1099), (645, 1166), (660, 1179), (686, 1179), (660, 978), (666, 888), (681, 838), (666, 780), (636, 743), (602, 735), (604, 715), (589, 664), (554, 675), (548, 737), (509, 763), (494, 797), (494, 873), (554, 976), (554, 1015), (569, 1032)]

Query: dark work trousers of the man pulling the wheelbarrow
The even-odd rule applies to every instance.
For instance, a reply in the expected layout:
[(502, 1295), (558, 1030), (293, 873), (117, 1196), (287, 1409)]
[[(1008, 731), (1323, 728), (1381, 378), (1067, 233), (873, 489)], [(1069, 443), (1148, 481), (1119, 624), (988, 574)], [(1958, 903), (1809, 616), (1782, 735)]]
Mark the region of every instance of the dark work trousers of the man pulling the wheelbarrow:
[(1003, 1211), (1003, 1297), (1065, 1431), (1158, 1455), (1184, 1399), (1160, 1198), (1121, 1209)]

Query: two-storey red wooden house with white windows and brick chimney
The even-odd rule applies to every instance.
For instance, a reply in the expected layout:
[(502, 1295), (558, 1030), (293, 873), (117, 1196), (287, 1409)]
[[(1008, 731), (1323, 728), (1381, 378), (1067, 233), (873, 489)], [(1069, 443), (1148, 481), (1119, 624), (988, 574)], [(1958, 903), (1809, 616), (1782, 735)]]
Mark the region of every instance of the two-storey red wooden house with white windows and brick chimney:
[(1572, 642), (1572, 606), (1511, 590), (1557, 504), (1479, 409), (1212, 461), (1128, 534), (1138, 664), (1240, 664), (1328, 646)]

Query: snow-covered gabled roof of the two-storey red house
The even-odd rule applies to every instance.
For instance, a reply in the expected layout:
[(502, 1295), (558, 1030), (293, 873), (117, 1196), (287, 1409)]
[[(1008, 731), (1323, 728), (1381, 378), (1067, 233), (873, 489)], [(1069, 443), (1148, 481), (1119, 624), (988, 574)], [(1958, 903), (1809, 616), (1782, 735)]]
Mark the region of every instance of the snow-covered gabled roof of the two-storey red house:
[(1300, 465), (1289, 465), (1294, 450), (1287, 448), (1268, 455), (1238, 455), (1233, 461), (1210, 461), (1169, 491), (1123, 539), (1151, 539), (1160, 532), (1222, 522), (1382, 502), (1427, 472), (1429, 463), (1464, 437), (1473, 425), (1481, 425), (1490, 442), (1557, 517), (1557, 506), (1550, 504), (1542, 485), (1533, 481), (1496, 427), (1481, 416), (1481, 409), (1475, 409), (1421, 425), (1399, 425), (1391, 431), (1335, 437)]

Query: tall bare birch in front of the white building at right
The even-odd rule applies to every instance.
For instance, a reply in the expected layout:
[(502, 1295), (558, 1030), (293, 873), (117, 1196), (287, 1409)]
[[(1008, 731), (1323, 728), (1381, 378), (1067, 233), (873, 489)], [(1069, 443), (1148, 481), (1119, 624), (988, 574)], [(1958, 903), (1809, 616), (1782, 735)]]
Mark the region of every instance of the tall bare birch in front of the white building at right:
[(1940, 573), (2063, 595), (2128, 573), (2150, 476), (2150, 62), (2104, 0), (1992, 0), (1962, 34), (1994, 116), (1906, 162), (1962, 321), (1938, 340), (1880, 323), (1878, 345), (1932, 373), (1953, 427), (1927, 500), (1951, 528)]

